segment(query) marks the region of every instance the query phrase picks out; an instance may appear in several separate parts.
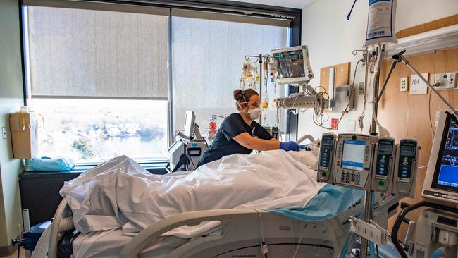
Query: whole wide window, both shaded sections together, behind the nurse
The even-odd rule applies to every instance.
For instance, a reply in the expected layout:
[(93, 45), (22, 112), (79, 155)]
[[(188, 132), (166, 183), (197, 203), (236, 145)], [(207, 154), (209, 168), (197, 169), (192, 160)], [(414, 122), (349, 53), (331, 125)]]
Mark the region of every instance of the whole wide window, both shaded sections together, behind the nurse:
[[(166, 1), (23, 3), (27, 105), (44, 118), (40, 155), (77, 164), (121, 154), (166, 159), (185, 111), (196, 113), (198, 125), (235, 112), (245, 55), (287, 47), (291, 34), (289, 13), (211, 13), (165, 8)], [(265, 89), (269, 99), (287, 92), (270, 80)], [(264, 119), (274, 125), (285, 116), (270, 109)]]

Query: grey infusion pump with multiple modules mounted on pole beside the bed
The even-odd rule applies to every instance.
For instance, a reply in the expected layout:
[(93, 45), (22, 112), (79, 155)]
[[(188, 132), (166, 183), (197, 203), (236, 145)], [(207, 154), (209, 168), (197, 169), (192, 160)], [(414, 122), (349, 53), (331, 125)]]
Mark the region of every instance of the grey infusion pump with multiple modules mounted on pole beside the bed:
[(391, 194), (413, 195), (419, 146), (390, 137), (325, 133), (321, 137), (318, 182)]

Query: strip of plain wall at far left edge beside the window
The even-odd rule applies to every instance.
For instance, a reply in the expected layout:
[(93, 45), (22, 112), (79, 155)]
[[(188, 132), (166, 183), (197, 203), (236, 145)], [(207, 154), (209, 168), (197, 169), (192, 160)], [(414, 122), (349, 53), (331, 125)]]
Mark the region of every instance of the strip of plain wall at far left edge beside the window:
[(22, 224), (18, 174), (23, 171), (19, 159), (13, 159), (9, 113), (23, 105), (23, 78), (20, 63), (18, 0), (0, 1), (0, 247), (10, 245)]

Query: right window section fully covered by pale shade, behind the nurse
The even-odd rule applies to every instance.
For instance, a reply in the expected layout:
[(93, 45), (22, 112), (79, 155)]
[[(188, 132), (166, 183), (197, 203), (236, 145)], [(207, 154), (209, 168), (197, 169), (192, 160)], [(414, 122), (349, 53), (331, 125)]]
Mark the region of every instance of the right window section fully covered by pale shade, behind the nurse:
[[(188, 110), (196, 113), (198, 125), (211, 115), (237, 112), (233, 91), (240, 88), (245, 55), (270, 54), (272, 49), (287, 46), (287, 27), (172, 17), (171, 29), (175, 130), (183, 129)], [(267, 88), (266, 94), (263, 85), (263, 99), (285, 94), (284, 86), (274, 89), (270, 80)], [(273, 107), (263, 116), (267, 118), (264, 125), (279, 123)]]

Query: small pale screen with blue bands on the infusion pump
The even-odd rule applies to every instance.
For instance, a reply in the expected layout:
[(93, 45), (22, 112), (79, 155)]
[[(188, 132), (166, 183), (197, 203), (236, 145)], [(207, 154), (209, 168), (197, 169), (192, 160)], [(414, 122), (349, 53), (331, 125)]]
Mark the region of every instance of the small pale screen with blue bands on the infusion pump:
[(363, 171), (365, 141), (344, 140), (342, 168)]

